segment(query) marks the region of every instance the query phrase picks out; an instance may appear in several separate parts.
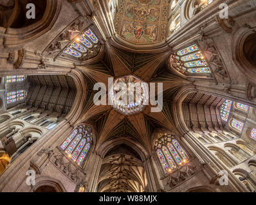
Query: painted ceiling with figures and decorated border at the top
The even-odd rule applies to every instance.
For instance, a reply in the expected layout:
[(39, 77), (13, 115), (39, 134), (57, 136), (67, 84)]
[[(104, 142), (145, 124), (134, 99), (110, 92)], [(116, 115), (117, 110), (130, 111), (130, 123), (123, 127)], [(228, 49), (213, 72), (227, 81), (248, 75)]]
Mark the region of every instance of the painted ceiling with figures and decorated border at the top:
[(114, 28), (135, 44), (151, 44), (167, 36), (168, 0), (119, 0)]

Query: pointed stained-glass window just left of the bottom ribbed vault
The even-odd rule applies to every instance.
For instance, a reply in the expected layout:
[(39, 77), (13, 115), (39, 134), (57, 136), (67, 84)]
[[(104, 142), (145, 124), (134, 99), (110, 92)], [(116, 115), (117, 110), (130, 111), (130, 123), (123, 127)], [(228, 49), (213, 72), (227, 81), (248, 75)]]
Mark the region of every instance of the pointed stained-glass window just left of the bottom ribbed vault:
[(76, 161), (82, 167), (86, 159), (87, 153), (93, 144), (93, 130), (90, 126), (78, 126), (71, 135), (60, 145), (68, 158)]

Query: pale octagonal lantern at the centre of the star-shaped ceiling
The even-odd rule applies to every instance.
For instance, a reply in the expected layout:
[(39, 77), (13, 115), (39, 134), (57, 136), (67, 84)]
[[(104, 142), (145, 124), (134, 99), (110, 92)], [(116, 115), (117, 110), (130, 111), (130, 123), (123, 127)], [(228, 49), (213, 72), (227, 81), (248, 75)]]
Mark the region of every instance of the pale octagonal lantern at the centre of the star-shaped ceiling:
[(109, 97), (114, 110), (131, 115), (139, 113), (149, 103), (149, 88), (147, 83), (134, 76), (124, 76), (115, 79)]

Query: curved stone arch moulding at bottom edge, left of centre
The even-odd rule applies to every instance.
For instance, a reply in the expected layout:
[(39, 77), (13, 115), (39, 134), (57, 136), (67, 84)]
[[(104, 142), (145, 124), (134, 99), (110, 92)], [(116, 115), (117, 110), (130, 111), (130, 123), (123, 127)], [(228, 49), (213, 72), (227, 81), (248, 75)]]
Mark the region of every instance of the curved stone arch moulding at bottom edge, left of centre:
[(30, 192), (36, 192), (42, 186), (50, 186), (51, 188), (54, 188), (55, 192), (66, 192), (65, 187), (59, 180), (44, 176), (36, 177), (35, 186), (33, 186)]

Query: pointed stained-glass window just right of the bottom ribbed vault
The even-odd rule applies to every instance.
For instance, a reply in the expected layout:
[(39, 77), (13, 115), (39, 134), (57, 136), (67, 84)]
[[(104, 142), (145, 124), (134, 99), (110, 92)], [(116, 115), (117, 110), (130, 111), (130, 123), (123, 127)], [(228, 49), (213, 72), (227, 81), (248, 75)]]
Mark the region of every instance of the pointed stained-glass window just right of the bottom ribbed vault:
[(179, 142), (170, 134), (158, 134), (154, 149), (165, 173), (186, 163), (188, 155)]

